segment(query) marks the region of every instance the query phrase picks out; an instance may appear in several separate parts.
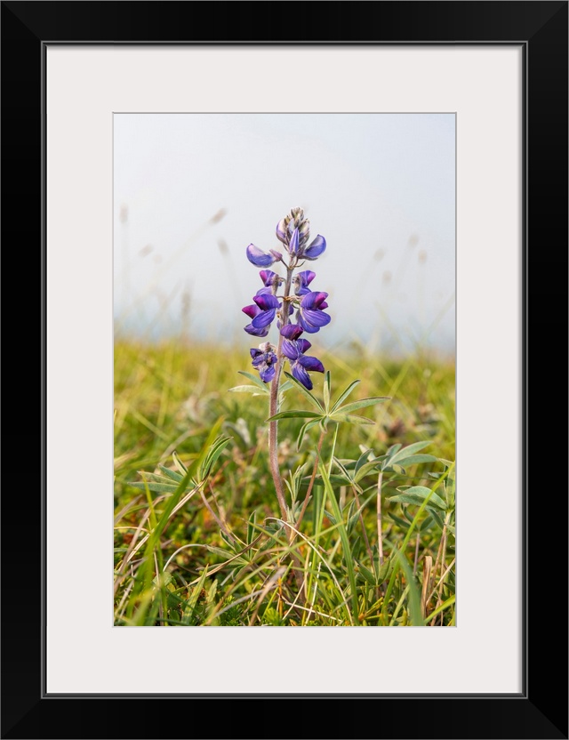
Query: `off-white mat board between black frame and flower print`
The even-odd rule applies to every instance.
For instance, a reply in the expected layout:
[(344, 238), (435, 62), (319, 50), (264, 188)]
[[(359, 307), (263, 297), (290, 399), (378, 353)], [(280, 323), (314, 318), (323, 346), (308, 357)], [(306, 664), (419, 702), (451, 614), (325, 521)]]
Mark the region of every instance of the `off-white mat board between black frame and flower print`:
[[(48, 693), (521, 691), (521, 63), (492, 46), (48, 47)], [(456, 627), (112, 626), (113, 111), (456, 112)]]

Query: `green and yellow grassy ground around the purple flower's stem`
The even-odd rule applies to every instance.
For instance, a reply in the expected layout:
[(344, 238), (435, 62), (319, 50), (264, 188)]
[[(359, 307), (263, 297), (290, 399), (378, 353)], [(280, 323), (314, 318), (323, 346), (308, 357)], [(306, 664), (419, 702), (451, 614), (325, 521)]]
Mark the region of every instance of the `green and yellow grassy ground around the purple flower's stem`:
[[(320, 352), (332, 403), (355, 380), (348, 403), (389, 400), (300, 448), (307, 418), (278, 422), (284, 522), (268, 397), (228, 390), (247, 346), (116, 342), (115, 623), (453, 625), (453, 361)], [(290, 409), (310, 409), (294, 387)]]

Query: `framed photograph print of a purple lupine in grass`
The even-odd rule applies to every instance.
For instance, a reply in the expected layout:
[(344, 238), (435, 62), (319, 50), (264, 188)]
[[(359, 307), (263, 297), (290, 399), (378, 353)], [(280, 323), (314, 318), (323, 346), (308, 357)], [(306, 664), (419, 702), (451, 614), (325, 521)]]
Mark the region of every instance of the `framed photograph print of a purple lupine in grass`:
[(456, 626), (455, 123), (114, 114), (115, 626)]

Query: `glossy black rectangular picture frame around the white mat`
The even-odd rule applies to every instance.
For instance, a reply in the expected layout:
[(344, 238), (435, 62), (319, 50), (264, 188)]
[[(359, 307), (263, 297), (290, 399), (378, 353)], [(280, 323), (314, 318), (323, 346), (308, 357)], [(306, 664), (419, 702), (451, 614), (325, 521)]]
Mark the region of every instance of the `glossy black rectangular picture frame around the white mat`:
[[(287, 11), (300, 12), (300, 22), (279, 22), (279, 13)], [(4, 412), (2, 737), (567, 738), (567, 495), (557, 423), (565, 421), (558, 386), (566, 390), (566, 343), (561, 351), (549, 346), (544, 327), (553, 322), (555, 336), (566, 340), (559, 325), (566, 330), (568, 3), (2, 2), (1, 18), (2, 236), (4, 275), (12, 286), (3, 322), (9, 348), (4, 369), (11, 390), (18, 388), (25, 397), (19, 401), (10, 393), (10, 412)], [(158, 42), (523, 46), (525, 651), (520, 695), (250, 696), (238, 687), (235, 695), (199, 697), (44, 693), (45, 49), (51, 43)], [(34, 300), (37, 313), (26, 319)], [(38, 353), (37, 364), (30, 345)], [(26, 373), (41, 367), (41, 383), (37, 377), (23, 382), (22, 367)], [(12, 369), (19, 377), (11, 377)], [(29, 413), (24, 413), (26, 400)], [(20, 406), (12, 410), (14, 402)], [(38, 411), (40, 423), (32, 424), (30, 416), (36, 419)], [(509, 615), (496, 605), (485, 618)], [(444, 670), (453, 670), (452, 656)], [(151, 704), (138, 704), (144, 699)], [(175, 701), (187, 706), (170, 704)]]

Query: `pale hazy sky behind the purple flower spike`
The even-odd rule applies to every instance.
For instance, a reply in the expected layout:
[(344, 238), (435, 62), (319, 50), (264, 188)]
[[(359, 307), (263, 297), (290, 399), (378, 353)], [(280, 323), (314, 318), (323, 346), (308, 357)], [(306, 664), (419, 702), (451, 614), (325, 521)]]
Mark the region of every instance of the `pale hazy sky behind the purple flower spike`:
[(299, 205), (327, 242), (304, 268), (330, 294), (313, 344), (453, 352), (453, 114), (116, 114), (114, 126), (117, 332), (256, 346), (241, 309), (262, 284), (245, 248), (280, 245), (276, 223)]

